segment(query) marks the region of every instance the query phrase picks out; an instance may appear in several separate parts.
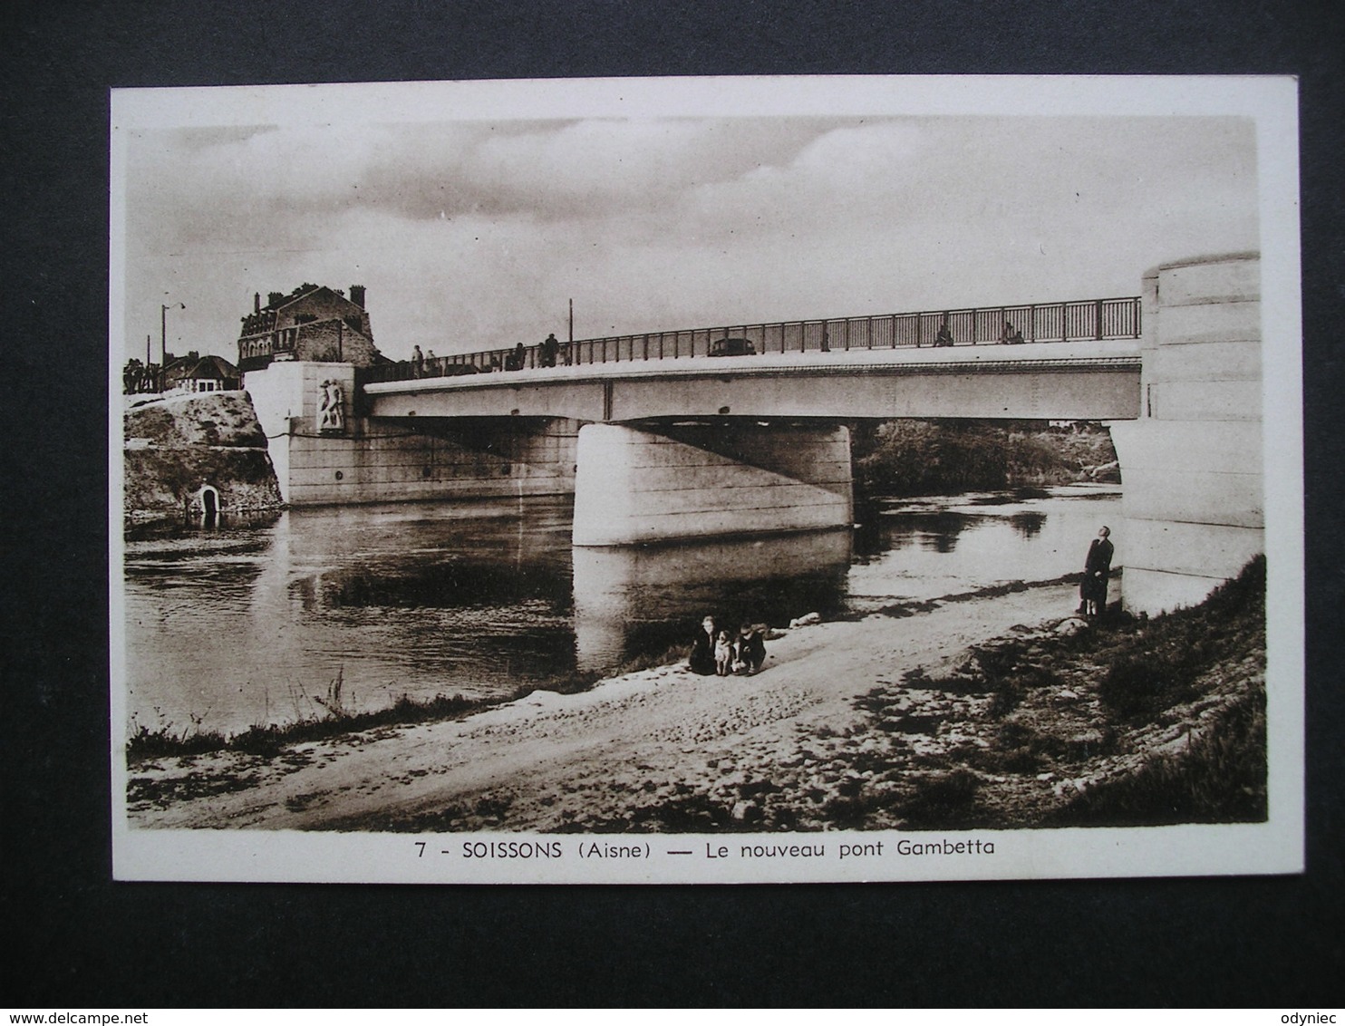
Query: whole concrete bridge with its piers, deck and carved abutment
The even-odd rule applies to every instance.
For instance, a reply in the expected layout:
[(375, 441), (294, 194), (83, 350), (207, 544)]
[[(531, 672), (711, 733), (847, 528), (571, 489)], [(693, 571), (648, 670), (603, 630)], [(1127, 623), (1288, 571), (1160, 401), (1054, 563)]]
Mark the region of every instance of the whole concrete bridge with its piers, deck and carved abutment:
[[(1263, 551), (1259, 260), (1165, 265), (1141, 301), (1131, 339), (1098, 338), (1102, 304), (1122, 301), (1096, 301), (1072, 304), (1095, 307), (1096, 331), (1068, 344), (1040, 340), (1053, 315), (1021, 307), (901, 315), (915, 344), (893, 316), (868, 319), (854, 346), (851, 321), (830, 323), (843, 336), (812, 321), (740, 329), (751, 355), (703, 355), (709, 332), (689, 356), (672, 332), (674, 359), (663, 335), (623, 336), (584, 343), (569, 366), (530, 351), (510, 372), (356, 383), (350, 364), (277, 362), (245, 387), (292, 504), (573, 492), (577, 546), (847, 528), (858, 420), (1103, 421), (1124, 480), (1124, 602), (1157, 612)], [(985, 324), (1014, 316), (1024, 344), (985, 344)], [(921, 317), (964, 344), (921, 347)], [(616, 359), (599, 362), (599, 342)], [(339, 430), (320, 410), (332, 385), (348, 397)]]

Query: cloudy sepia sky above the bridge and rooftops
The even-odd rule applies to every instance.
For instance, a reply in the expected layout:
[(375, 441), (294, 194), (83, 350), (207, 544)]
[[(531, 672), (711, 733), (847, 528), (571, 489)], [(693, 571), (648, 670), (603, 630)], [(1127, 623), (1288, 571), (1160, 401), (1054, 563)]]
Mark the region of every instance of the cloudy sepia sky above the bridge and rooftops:
[(339, 118), (136, 128), (126, 355), (235, 359), (253, 293), (369, 289), (406, 356), (1130, 296), (1256, 249), (1241, 117)]

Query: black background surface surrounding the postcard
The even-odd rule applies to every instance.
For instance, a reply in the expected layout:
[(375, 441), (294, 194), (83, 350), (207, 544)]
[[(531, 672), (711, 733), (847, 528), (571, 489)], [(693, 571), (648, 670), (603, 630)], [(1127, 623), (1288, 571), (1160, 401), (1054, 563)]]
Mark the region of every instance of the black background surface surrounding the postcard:
[[(5, 1003), (1338, 1003), (1341, 5), (28, 0), (0, 17)], [(113, 883), (108, 90), (838, 73), (1301, 77), (1306, 875), (646, 889)]]

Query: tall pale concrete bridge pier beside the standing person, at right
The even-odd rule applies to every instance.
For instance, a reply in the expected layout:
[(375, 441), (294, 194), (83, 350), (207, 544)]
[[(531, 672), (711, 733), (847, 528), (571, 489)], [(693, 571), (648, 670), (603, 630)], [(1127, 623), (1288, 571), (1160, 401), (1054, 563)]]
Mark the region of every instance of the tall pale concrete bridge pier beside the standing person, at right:
[(1194, 605), (1266, 551), (1258, 254), (1145, 276), (1141, 416), (1111, 424), (1124, 492), (1122, 602)]

